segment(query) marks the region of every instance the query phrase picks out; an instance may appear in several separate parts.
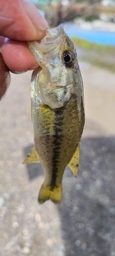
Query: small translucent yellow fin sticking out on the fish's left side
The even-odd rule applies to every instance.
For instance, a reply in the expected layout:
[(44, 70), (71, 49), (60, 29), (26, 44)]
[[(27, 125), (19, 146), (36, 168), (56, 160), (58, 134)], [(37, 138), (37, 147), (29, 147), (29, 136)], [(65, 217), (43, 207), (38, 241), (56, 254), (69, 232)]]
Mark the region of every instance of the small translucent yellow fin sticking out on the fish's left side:
[(32, 147), (31, 152), (28, 154), (27, 158), (23, 163), (38, 163), (40, 162), (38, 153), (36, 152), (35, 146)]

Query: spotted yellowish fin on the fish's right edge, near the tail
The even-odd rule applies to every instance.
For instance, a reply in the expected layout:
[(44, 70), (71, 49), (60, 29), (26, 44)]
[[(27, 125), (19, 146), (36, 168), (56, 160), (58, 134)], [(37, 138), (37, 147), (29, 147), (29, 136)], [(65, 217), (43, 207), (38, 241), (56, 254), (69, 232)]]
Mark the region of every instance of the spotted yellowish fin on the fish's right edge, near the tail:
[(75, 177), (77, 177), (78, 167), (79, 167), (79, 145), (76, 148), (76, 151), (70, 161), (68, 166), (71, 168)]

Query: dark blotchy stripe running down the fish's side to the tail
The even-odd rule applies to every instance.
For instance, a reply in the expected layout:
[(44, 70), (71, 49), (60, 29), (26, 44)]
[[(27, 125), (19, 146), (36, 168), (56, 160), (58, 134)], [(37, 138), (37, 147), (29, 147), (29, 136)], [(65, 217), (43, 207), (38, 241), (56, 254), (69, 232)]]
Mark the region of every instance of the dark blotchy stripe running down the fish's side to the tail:
[[(59, 112), (59, 113), (58, 113)], [(53, 190), (54, 187), (56, 186), (56, 179), (58, 176), (59, 172), (59, 156), (61, 153), (61, 142), (62, 142), (62, 135), (60, 134), (63, 129), (63, 116), (62, 112), (57, 110), (57, 113), (55, 113), (55, 122), (54, 122), (54, 133), (55, 135), (53, 136), (53, 156), (52, 156), (52, 180), (51, 180), (51, 189)]]

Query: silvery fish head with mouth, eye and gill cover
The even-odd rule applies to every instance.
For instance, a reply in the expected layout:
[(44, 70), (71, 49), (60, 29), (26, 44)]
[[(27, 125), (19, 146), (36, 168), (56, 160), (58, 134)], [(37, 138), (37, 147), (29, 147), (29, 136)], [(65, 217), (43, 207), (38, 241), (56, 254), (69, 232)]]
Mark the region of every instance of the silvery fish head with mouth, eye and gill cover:
[(33, 73), (38, 98), (52, 109), (60, 108), (76, 93), (81, 100), (82, 78), (72, 39), (63, 25), (49, 29), (39, 42), (29, 41), (41, 71)]

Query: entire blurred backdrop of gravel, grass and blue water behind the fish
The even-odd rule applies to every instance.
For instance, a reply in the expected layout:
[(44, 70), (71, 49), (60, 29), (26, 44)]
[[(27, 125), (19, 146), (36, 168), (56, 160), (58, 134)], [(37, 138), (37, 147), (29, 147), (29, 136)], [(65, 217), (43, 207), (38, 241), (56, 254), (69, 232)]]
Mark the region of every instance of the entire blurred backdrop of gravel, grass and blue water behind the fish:
[(0, 108), (2, 256), (115, 256), (115, 1), (37, 1), (50, 27), (64, 24), (84, 83), (85, 127), (77, 179), (67, 166), (59, 206), (39, 205), (40, 163), (21, 163), (34, 144), (32, 72), (11, 74)]

